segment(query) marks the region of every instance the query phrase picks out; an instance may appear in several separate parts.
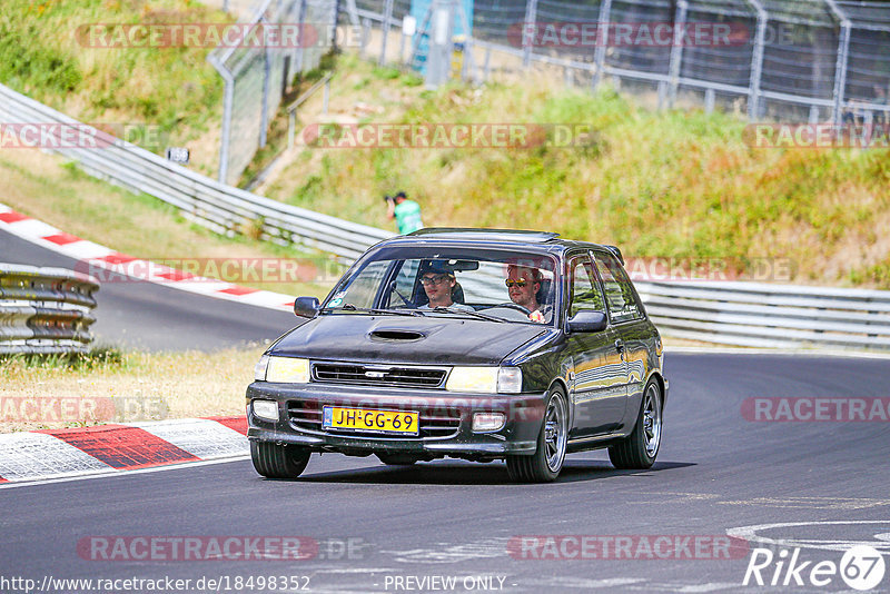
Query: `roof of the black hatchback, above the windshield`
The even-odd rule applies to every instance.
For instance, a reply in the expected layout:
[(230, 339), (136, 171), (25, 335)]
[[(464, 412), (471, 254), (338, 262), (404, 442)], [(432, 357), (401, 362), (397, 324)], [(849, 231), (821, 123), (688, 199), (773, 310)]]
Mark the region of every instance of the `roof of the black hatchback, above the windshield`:
[(573, 248), (604, 249), (624, 264), (621, 250), (615, 246), (562, 239), (560, 234), (521, 229), (479, 229), (463, 227), (429, 227), (408, 235), (385, 239), (377, 247), (404, 247), (412, 244), (458, 245), (472, 242), (479, 247), (532, 248), (535, 251), (562, 254)]

